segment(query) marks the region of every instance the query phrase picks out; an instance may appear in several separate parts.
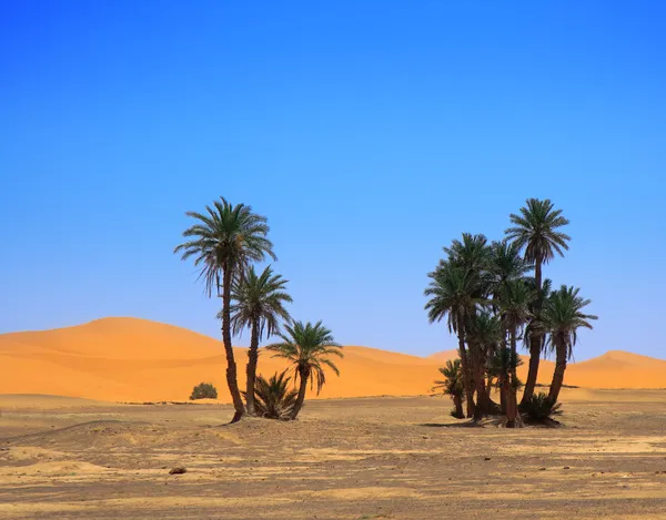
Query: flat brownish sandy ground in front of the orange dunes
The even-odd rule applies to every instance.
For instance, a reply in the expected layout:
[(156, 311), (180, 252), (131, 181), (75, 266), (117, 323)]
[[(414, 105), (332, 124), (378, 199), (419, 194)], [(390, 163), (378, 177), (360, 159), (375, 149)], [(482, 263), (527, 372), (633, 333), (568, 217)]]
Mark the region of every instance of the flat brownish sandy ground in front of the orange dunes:
[(443, 397), (226, 426), (226, 405), (0, 396), (0, 518), (666, 518), (666, 391), (563, 400), (563, 427), (512, 431), (455, 426)]

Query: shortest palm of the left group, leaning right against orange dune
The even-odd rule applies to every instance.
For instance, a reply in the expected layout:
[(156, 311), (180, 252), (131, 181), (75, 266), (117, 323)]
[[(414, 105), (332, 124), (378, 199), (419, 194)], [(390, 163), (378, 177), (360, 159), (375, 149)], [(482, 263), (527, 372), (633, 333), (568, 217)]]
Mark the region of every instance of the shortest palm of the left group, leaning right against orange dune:
[(292, 419), (295, 419), (303, 401), (305, 400), (305, 390), (307, 381), (311, 389), (316, 385), (316, 394), (321, 391), (326, 383), (324, 366), (327, 366), (340, 376), (340, 370), (330, 359), (330, 356), (344, 357), (342, 346), (335, 343), (331, 330), (317, 322), (312, 325), (310, 322), (296, 322), (284, 327), (286, 334), (280, 334), (281, 343), (269, 345), (266, 350), (275, 353), (273, 357), (282, 357), (291, 361), (294, 367), (294, 381), (300, 379), (299, 397), (292, 410)]

